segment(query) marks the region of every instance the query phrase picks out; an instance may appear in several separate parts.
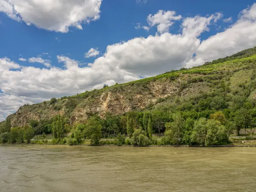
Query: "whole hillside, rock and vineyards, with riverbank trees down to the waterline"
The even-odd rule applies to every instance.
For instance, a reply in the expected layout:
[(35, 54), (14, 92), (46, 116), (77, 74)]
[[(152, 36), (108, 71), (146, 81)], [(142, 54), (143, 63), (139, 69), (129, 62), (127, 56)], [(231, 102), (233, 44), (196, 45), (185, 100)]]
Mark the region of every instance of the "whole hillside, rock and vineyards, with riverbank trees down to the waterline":
[(0, 143), (255, 146), (255, 131), (256, 47), (191, 69), (24, 105), (0, 122)]

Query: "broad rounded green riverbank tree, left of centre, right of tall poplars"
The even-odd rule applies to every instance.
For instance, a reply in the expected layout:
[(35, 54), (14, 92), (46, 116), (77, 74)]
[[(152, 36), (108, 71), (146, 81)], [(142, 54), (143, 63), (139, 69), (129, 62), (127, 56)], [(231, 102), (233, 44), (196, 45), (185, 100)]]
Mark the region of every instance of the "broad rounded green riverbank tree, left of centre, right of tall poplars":
[(90, 140), (91, 145), (98, 145), (102, 134), (102, 125), (96, 117), (87, 120), (84, 135)]

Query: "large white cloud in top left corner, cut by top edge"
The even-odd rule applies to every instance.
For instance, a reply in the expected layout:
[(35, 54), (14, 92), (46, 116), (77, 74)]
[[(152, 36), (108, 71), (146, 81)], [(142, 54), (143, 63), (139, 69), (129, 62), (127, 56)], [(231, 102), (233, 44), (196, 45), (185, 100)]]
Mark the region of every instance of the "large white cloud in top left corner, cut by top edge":
[(56, 32), (98, 20), (102, 0), (0, 0), (0, 12), (27, 25)]

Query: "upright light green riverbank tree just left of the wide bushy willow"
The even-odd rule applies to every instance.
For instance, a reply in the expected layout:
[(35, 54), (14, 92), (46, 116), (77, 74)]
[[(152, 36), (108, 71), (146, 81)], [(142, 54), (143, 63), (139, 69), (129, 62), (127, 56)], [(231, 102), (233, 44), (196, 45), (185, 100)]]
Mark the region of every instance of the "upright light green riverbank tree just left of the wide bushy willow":
[(180, 145), (184, 131), (184, 119), (180, 113), (173, 115), (173, 122), (166, 122), (165, 136), (175, 145)]

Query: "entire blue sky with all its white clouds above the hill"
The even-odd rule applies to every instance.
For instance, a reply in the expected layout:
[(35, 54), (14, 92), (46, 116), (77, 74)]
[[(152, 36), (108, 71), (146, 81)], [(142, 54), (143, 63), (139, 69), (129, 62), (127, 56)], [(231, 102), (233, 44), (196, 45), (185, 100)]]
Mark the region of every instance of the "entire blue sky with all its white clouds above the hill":
[(0, 121), (255, 46), (253, 0), (0, 0)]

